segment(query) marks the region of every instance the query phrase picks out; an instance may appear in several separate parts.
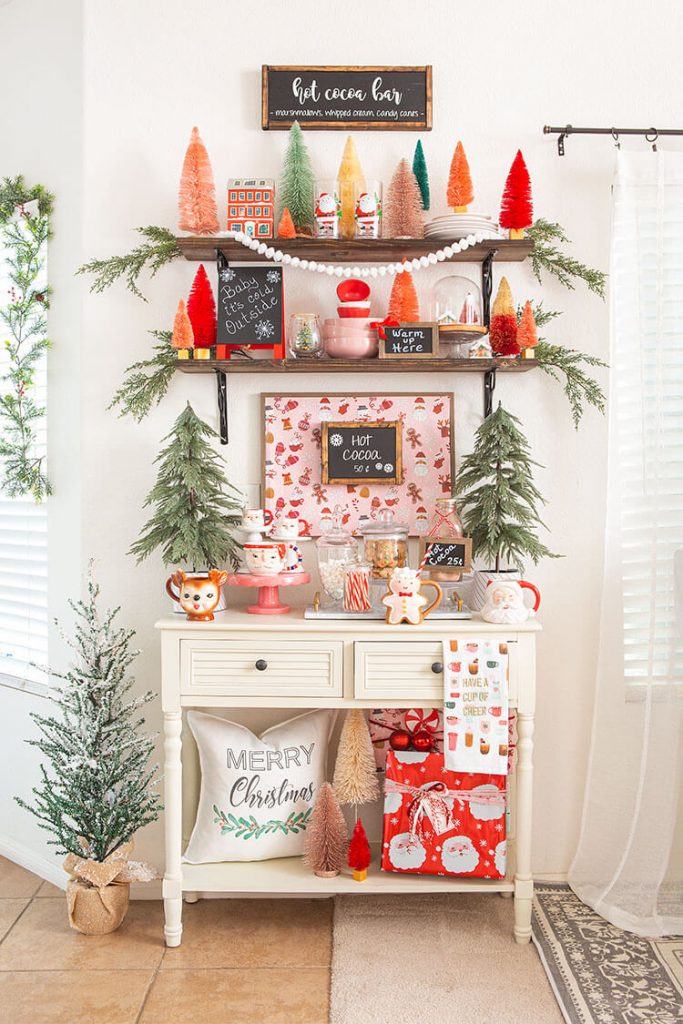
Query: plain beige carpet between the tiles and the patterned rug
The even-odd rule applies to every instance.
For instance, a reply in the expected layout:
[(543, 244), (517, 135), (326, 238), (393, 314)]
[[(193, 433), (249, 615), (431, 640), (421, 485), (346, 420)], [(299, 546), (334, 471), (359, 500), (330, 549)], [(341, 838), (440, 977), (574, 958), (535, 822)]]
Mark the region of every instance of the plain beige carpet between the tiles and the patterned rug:
[(331, 1024), (562, 1024), (535, 947), (497, 894), (341, 896)]

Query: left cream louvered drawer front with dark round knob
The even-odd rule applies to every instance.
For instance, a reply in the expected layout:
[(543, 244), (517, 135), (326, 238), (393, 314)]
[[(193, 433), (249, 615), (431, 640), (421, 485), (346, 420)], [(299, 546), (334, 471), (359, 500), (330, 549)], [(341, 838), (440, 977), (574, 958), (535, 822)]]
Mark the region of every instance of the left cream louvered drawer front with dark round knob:
[(341, 640), (181, 640), (184, 693), (317, 698), (343, 693)]

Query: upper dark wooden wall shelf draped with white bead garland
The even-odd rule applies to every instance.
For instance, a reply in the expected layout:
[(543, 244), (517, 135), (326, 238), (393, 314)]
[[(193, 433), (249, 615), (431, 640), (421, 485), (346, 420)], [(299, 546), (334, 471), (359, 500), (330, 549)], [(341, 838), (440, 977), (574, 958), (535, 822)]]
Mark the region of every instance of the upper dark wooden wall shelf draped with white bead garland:
[[(353, 239), (350, 242), (333, 239), (263, 239), (273, 249), (280, 249), (299, 259), (313, 259), (325, 263), (394, 263), (402, 259), (416, 259), (441, 249), (449, 243), (443, 239)], [(185, 259), (212, 260), (220, 249), (228, 260), (236, 263), (263, 263), (264, 257), (247, 249), (232, 238), (218, 234), (184, 236), (177, 239)], [(462, 252), (455, 253), (450, 262), (479, 263), (490, 252), (496, 260), (520, 263), (531, 251), (529, 239), (519, 241), (492, 239), (480, 242)]]

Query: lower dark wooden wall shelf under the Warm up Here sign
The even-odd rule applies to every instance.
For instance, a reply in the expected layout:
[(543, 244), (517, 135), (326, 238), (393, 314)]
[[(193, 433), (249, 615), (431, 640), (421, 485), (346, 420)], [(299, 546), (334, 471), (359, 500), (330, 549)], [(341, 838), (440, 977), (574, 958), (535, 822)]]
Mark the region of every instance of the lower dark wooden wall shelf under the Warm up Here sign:
[(490, 370), (524, 374), (539, 366), (537, 359), (178, 359), (175, 368), (183, 374), (482, 374)]

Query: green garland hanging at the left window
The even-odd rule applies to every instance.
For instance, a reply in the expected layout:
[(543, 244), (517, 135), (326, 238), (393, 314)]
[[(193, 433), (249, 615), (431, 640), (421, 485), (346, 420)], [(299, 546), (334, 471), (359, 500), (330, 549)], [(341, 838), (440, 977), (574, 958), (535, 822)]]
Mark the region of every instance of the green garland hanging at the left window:
[[(0, 377), (0, 488), (9, 498), (30, 495), (36, 502), (51, 493), (45, 457), (36, 454), (36, 428), (45, 409), (36, 402), (34, 393), (36, 370), (50, 347), (49, 289), (39, 283), (47, 258), (53, 199), (42, 185), (30, 188), (20, 176), (0, 181), (0, 233), (11, 282), (9, 296), (6, 301), (3, 296), (5, 304), (0, 305), (0, 324), (8, 333), (2, 338), (8, 365)], [(25, 209), (29, 203), (37, 209)]]

